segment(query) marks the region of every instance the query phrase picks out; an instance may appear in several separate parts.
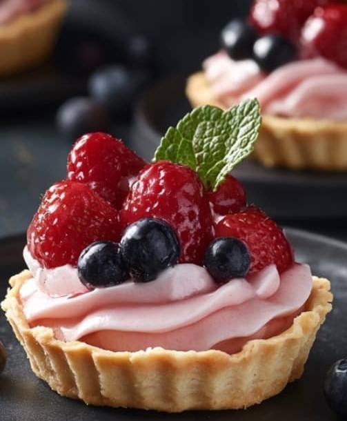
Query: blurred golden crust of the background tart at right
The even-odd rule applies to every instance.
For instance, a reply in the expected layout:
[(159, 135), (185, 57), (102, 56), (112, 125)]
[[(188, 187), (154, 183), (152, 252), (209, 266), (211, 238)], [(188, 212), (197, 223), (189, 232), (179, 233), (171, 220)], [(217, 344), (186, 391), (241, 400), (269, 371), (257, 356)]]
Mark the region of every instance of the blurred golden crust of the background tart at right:
[[(192, 106), (225, 108), (213, 97), (204, 72), (188, 78), (186, 95)], [(252, 157), (268, 167), (347, 170), (347, 122), (264, 115)]]

